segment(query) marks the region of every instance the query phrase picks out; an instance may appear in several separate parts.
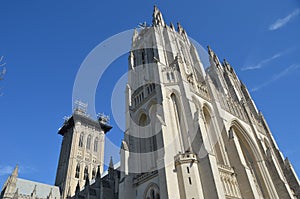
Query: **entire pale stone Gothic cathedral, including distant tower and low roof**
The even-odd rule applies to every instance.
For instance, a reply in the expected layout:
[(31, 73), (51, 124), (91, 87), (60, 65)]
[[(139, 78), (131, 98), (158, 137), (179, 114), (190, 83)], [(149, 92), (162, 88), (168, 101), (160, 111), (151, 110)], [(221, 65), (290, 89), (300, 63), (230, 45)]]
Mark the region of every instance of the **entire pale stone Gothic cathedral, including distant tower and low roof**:
[[(8, 177), (0, 199), (294, 199), (298, 177), (233, 67), (208, 46), (204, 69), (178, 23), (155, 6), (128, 57), (120, 163), (104, 172), (111, 126), (78, 106), (63, 137), (54, 185)], [(117, 166), (116, 166), (117, 165)]]

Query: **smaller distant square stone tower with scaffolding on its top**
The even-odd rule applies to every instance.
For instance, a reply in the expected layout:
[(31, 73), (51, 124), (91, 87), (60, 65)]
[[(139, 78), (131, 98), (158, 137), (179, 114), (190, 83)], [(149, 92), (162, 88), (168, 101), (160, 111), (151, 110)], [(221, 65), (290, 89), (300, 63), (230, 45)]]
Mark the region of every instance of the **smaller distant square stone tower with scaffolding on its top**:
[(60, 187), (62, 198), (73, 196), (76, 187), (83, 188), (87, 180), (93, 181), (98, 169), (103, 172), (104, 138), (112, 128), (106, 117), (93, 120), (80, 104), (58, 131), (63, 141), (55, 185)]

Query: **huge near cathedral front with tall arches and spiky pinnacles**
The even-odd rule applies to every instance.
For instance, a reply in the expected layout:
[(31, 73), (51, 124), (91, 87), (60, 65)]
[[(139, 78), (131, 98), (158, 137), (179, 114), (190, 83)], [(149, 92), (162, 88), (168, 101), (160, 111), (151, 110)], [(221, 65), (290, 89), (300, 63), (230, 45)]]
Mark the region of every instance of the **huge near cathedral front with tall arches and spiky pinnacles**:
[(295, 198), (299, 181), (234, 69), (204, 70), (154, 7), (129, 55), (119, 198)]

